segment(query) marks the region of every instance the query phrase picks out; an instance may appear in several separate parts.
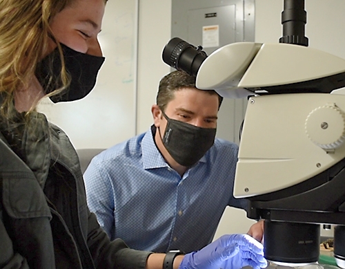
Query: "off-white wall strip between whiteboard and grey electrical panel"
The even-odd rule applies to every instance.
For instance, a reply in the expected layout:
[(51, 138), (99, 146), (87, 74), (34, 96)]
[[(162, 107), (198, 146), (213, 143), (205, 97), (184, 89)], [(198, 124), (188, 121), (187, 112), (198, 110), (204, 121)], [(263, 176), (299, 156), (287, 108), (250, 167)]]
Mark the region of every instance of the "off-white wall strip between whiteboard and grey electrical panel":
[(171, 0), (139, 1), (139, 57), (137, 133), (153, 123), (150, 112), (156, 102), (159, 80), (170, 72), (161, 52), (171, 36)]

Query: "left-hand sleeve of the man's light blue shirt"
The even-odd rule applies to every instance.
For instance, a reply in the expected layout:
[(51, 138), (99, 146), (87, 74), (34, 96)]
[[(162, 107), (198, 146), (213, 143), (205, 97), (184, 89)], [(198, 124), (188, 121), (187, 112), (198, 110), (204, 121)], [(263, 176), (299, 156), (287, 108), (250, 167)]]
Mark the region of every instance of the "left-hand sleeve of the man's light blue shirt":
[(114, 193), (108, 173), (97, 156), (83, 174), (86, 187), (86, 198), (91, 212), (97, 216), (101, 228), (106, 231), (110, 239), (114, 239)]

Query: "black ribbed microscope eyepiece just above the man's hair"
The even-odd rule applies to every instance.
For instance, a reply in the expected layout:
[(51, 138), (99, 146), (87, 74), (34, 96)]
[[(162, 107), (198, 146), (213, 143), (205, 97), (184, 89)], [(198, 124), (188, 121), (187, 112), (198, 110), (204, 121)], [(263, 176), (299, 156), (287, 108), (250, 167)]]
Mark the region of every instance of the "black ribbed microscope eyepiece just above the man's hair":
[(163, 61), (166, 64), (195, 77), (206, 57), (201, 46), (195, 47), (179, 37), (170, 39), (162, 53)]

